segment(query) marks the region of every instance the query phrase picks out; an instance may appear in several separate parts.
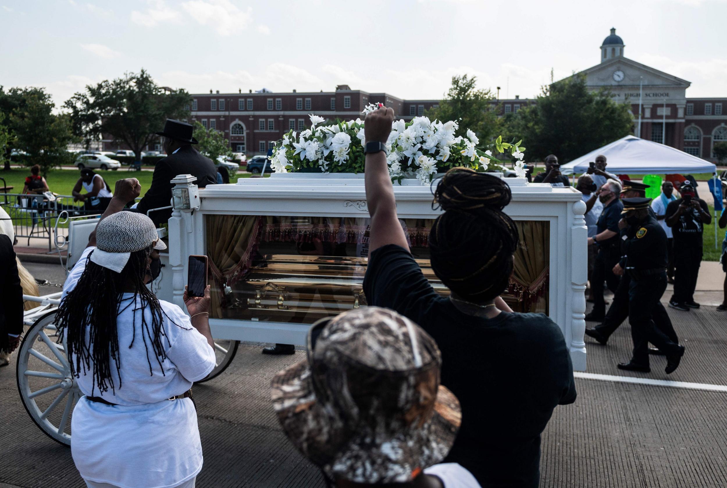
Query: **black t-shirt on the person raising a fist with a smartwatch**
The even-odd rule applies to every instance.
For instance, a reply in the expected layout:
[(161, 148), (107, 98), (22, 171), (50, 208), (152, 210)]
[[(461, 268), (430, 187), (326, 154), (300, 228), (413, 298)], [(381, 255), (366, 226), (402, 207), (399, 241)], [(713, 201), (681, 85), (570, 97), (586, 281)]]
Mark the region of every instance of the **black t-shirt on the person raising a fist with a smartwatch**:
[(558, 404), (573, 403), (573, 366), (561, 329), (542, 313), (470, 316), (441, 297), (406, 249), (371, 253), (364, 279), (369, 305), (419, 324), (442, 353), (441, 383), (462, 405), (448, 462), (484, 487), (537, 487), (540, 434)]

